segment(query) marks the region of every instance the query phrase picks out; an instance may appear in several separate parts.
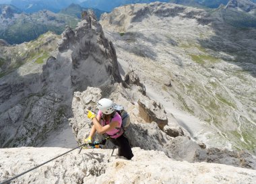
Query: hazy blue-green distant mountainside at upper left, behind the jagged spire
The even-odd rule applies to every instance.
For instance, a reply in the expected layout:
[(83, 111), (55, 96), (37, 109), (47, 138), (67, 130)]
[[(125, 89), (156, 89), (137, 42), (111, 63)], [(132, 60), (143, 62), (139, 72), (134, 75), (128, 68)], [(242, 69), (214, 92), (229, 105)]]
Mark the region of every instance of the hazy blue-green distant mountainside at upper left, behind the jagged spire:
[(78, 22), (76, 17), (60, 15), (48, 10), (31, 14), (11, 11), (9, 5), (1, 7), (0, 15), (0, 39), (9, 44), (28, 42), (48, 31), (61, 34), (66, 25), (75, 28)]

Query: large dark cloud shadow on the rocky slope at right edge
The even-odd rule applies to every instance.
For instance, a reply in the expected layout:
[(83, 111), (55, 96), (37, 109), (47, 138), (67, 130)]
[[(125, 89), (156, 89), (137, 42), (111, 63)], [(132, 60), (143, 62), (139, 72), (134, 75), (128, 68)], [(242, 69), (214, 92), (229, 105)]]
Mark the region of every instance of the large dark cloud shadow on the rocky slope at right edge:
[(215, 16), (218, 16), (212, 22), (215, 34), (208, 39), (199, 40), (199, 44), (202, 48), (214, 50), (217, 58), (236, 64), (256, 77), (256, 30), (230, 26), (223, 20), (222, 13)]

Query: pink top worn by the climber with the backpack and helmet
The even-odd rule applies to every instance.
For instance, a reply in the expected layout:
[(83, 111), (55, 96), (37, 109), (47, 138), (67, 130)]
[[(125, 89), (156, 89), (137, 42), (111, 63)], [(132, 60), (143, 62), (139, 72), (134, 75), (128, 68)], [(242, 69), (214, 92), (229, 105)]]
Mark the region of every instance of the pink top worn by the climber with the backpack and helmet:
[[(98, 111), (98, 116), (99, 116), (100, 118), (102, 117), (102, 111), (100, 111), (100, 110)], [(117, 128), (121, 128), (121, 126), (122, 126), (122, 118), (121, 118), (121, 116), (119, 115), (119, 113), (116, 112), (114, 118), (112, 118), (110, 121), (111, 121), (111, 122), (119, 122)], [(105, 122), (105, 121), (102, 120), (102, 119), (100, 119), (100, 123), (101, 123), (102, 126), (105, 126), (105, 125), (107, 125), (107, 124), (110, 124), (109, 121), (106, 121), (106, 122)], [(114, 128), (113, 130), (109, 130), (108, 132), (106, 132), (106, 134), (108, 134), (111, 138), (118, 138), (118, 137), (121, 136), (122, 133), (123, 133), (123, 131), (121, 131), (120, 134), (117, 134), (117, 132), (120, 132), (120, 130)], [(117, 135), (115, 135), (115, 134), (117, 134)], [(111, 135), (115, 135), (115, 136), (111, 136)]]

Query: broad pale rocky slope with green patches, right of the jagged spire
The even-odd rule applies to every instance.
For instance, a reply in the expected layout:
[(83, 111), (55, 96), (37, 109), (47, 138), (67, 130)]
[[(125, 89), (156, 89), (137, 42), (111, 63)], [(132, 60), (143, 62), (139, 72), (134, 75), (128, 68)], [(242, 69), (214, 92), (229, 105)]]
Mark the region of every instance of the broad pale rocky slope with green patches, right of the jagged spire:
[(126, 5), (102, 15), (100, 24), (121, 62), (195, 139), (255, 152), (255, 30), (229, 26), (221, 12)]

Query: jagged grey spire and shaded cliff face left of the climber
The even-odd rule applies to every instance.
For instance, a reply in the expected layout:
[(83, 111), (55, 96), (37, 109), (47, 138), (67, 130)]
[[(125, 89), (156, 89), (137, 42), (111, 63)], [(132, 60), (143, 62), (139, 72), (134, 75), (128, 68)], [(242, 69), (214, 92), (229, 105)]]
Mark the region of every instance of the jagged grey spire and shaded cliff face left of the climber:
[(37, 145), (47, 132), (67, 124), (73, 91), (121, 82), (115, 48), (92, 12), (62, 36), (59, 52), (41, 73), (28, 67), (0, 79), (1, 147)]

